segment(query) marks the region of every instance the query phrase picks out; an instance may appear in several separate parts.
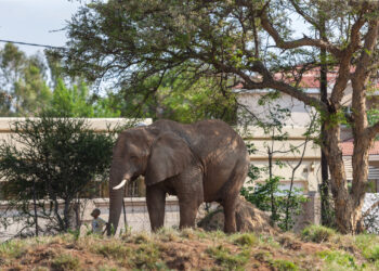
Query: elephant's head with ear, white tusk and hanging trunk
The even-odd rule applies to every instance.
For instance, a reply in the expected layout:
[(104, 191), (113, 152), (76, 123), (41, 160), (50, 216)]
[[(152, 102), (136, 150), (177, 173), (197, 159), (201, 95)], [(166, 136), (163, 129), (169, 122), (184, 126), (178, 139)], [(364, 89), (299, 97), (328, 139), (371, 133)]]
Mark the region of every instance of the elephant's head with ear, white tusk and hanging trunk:
[[(146, 185), (180, 173), (193, 159), (186, 142), (155, 127), (123, 131), (114, 147), (109, 180), (109, 224), (117, 229), (122, 208), (123, 186), (145, 176)], [(108, 228), (110, 234), (110, 228)]]

